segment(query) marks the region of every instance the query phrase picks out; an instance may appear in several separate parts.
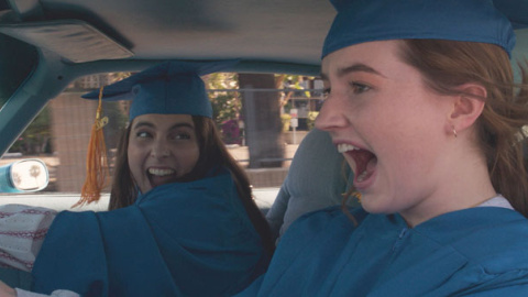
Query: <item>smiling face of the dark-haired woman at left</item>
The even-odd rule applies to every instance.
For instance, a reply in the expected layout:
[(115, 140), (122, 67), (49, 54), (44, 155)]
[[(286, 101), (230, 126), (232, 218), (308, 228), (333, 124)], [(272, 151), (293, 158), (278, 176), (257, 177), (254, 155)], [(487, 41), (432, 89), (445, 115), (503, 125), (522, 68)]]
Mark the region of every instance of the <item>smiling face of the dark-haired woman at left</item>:
[(143, 114), (132, 121), (129, 167), (141, 193), (190, 173), (199, 157), (189, 114)]

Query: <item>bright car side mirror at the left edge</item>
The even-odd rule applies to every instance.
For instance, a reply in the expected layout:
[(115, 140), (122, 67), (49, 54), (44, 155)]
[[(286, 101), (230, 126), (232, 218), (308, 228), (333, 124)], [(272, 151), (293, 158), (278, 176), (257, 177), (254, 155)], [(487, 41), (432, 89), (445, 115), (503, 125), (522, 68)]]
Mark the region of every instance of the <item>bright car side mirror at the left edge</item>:
[(0, 167), (0, 193), (37, 191), (47, 187), (50, 174), (36, 158), (18, 161)]

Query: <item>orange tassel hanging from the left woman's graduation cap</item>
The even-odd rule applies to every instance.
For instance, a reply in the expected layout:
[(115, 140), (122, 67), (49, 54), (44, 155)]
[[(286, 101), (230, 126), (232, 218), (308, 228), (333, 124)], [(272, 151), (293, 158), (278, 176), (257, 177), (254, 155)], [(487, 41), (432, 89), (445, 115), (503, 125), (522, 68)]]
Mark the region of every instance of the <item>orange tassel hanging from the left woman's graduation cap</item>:
[(80, 191), (80, 200), (72, 208), (99, 201), (101, 190), (108, 184), (108, 160), (107, 145), (102, 128), (108, 123), (108, 117), (101, 118), (102, 87), (99, 91), (99, 106), (97, 108), (96, 121), (91, 127), (90, 142), (86, 156), (86, 179)]

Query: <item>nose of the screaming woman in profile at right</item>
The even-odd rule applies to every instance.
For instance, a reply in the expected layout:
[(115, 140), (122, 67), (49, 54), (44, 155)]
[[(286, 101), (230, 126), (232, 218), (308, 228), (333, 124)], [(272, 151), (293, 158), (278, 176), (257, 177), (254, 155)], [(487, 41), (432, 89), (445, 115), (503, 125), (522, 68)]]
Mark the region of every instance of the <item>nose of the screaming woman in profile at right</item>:
[(323, 131), (332, 131), (348, 124), (343, 113), (342, 100), (337, 97), (328, 97), (316, 119), (316, 128)]

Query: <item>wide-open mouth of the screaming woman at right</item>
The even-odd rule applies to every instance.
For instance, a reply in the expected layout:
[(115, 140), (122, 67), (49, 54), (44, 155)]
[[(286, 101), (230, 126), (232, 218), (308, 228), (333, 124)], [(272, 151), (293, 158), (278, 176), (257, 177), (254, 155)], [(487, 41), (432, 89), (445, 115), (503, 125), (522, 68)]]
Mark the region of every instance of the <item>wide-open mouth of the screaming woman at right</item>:
[(355, 168), (352, 169), (354, 170), (354, 184), (356, 186), (366, 183), (373, 176), (377, 164), (376, 155), (346, 143), (338, 144), (338, 151), (354, 161)]

